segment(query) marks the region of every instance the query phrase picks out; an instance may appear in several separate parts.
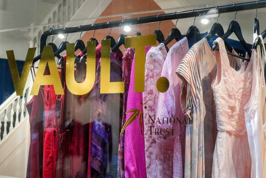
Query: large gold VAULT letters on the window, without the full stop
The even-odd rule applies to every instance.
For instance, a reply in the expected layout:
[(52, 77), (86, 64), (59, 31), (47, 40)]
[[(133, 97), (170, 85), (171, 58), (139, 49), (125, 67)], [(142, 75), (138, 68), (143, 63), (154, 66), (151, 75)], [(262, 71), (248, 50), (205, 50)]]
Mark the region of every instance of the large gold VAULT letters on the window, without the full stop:
[[(102, 40), (101, 53), (101, 81), (100, 93), (124, 93), (123, 81), (110, 81), (110, 39)], [(125, 47), (135, 47), (135, 92), (144, 92), (144, 74), (145, 74), (145, 46), (156, 45), (156, 35), (144, 35), (137, 37), (126, 37)], [(74, 43), (67, 44), (66, 49), (66, 86), (69, 91), (76, 95), (88, 93), (95, 81), (95, 41), (87, 42), (87, 68), (86, 78), (82, 83), (75, 81), (74, 77)], [(15, 91), (17, 95), (23, 95), (24, 87), (31, 68), (36, 48), (29, 48), (22, 69), (21, 77), (18, 74), (18, 68), (15, 61), (13, 50), (6, 51), (8, 64), (10, 67)], [(46, 64), (48, 63), (50, 75), (44, 75)], [(54, 85), (55, 94), (64, 94), (61, 85), (60, 76), (54, 59), (51, 46), (44, 46), (40, 59), (36, 77), (31, 89), (31, 95), (37, 95), (42, 85)]]

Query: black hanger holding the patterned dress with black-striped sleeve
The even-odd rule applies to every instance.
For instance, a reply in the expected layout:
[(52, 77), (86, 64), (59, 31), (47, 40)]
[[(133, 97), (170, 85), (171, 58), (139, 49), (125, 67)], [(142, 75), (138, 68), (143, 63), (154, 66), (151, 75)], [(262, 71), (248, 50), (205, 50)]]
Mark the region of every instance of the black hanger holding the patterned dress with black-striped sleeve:
[[(218, 37), (222, 37), (224, 35), (224, 30), (223, 30), (223, 27), (221, 24), (218, 23), (219, 21), (219, 16), (220, 14), (218, 15), (218, 18), (217, 18), (217, 22), (215, 22), (213, 25), (212, 25), (212, 28), (210, 30), (210, 32), (208, 33), (208, 35), (205, 37), (208, 41), (214, 36), (214, 35), (218, 35)], [(233, 48), (232, 46), (230, 46), (230, 44), (227, 42), (227, 40), (224, 41), (225, 43), (225, 46), (226, 48), (232, 52)]]

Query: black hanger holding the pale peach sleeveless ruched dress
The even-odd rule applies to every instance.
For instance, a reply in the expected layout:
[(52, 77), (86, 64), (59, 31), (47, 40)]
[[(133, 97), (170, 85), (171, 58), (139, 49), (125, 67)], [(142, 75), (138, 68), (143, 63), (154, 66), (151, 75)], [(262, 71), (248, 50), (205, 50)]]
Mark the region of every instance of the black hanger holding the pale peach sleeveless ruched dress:
[[(237, 13), (237, 12), (236, 12)], [(236, 16), (235, 13), (235, 16)], [(241, 27), (238, 24), (237, 21), (233, 20), (230, 22), (228, 30), (226, 31), (226, 33), (221, 37), (222, 40), (227, 39), (232, 33), (235, 33), (236, 37), (238, 38), (238, 40), (240, 41), (240, 43), (244, 46), (245, 50), (248, 52), (248, 55), (251, 56), (251, 49), (248, 49), (248, 45), (245, 42), (243, 35), (242, 35), (242, 31), (241, 31)], [(216, 50), (218, 48), (218, 43), (214, 42), (212, 45), (212, 50)], [(245, 59), (246, 60), (246, 59)]]

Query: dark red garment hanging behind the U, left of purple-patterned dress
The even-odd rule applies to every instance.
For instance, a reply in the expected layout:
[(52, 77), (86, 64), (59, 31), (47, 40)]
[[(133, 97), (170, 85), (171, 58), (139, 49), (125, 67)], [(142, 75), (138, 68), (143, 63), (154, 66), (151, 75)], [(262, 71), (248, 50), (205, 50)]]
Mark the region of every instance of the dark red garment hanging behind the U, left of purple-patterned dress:
[[(83, 54), (79, 53), (79, 56)], [(86, 79), (86, 62), (77, 64), (75, 71), (77, 82), (83, 82)], [(88, 143), (89, 143), (89, 111), (90, 102), (88, 94), (74, 95), (70, 94), (70, 111), (74, 116), (73, 135), (69, 147), (69, 177), (87, 177), (88, 169)]]

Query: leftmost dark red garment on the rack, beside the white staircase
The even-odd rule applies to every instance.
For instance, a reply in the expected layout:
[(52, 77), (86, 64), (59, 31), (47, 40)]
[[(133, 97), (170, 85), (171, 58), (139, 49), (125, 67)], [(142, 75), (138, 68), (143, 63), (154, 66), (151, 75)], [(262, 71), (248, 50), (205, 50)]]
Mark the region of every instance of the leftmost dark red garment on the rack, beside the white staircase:
[(31, 142), (28, 155), (27, 178), (40, 178), (43, 175), (43, 120), (44, 88), (31, 98), (26, 105), (30, 117)]

